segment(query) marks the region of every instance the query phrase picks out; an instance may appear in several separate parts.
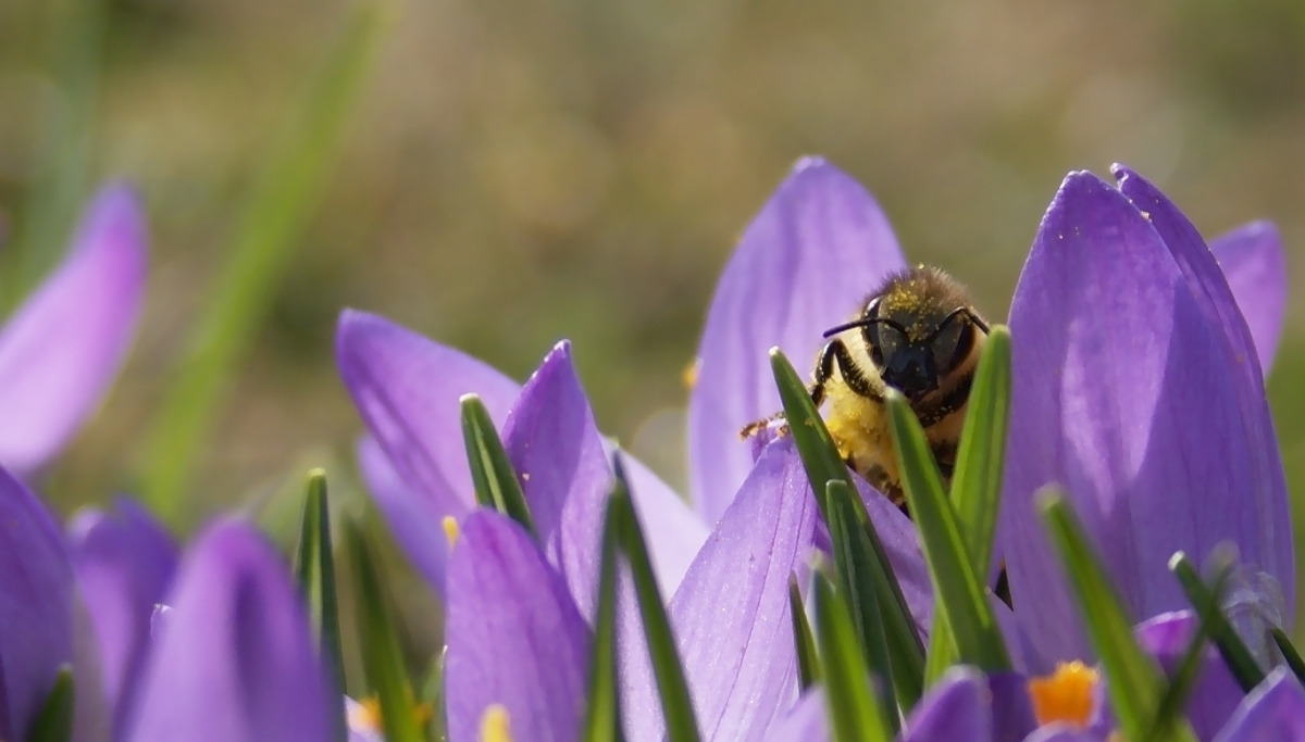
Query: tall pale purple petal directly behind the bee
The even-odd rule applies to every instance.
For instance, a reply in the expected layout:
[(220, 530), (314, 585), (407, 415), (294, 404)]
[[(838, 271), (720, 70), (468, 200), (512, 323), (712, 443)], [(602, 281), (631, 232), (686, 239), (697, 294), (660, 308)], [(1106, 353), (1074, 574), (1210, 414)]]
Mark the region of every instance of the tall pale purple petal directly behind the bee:
[(716, 286), (689, 400), (693, 503), (707, 523), (752, 468), (739, 430), (779, 411), (767, 351), (810, 363), (821, 333), (903, 266), (874, 198), (820, 159), (799, 162), (753, 219)]

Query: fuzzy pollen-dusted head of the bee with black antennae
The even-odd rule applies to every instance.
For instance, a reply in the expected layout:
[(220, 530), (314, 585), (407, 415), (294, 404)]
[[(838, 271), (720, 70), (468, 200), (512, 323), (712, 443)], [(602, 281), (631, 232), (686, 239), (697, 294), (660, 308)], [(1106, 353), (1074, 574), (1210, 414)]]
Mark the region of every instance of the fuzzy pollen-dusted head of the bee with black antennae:
[(856, 319), (825, 336), (860, 329), (883, 383), (916, 402), (964, 363), (976, 330), (988, 331), (958, 286), (941, 271), (910, 271), (874, 293)]

